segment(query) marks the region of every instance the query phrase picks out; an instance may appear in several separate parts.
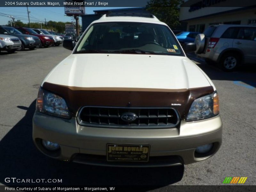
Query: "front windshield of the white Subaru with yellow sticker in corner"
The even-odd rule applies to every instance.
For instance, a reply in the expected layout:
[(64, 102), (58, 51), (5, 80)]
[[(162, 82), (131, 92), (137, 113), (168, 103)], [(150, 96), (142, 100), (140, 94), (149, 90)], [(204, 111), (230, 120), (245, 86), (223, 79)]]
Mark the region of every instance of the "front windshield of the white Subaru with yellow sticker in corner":
[(139, 22), (93, 24), (74, 53), (90, 52), (184, 56), (167, 26)]

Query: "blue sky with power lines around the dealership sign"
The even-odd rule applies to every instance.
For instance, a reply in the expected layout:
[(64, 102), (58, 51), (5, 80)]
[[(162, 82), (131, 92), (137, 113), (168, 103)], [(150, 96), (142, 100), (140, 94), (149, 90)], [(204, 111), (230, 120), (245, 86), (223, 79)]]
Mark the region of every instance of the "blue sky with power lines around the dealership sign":
[[(126, 7), (86, 7), (85, 13), (94, 14), (94, 10), (119, 8)], [(73, 17), (65, 16), (64, 7), (28, 7), (28, 11), (30, 11), (30, 22), (44, 22), (44, 19), (46, 21), (71, 22), (71, 19), (73, 19)], [(6, 25), (8, 23), (8, 20), (10, 20), (8, 16), (16, 18), (16, 21), (21, 20), (23, 23), (28, 23), (27, 7), (0, 7), (0, 25)]]

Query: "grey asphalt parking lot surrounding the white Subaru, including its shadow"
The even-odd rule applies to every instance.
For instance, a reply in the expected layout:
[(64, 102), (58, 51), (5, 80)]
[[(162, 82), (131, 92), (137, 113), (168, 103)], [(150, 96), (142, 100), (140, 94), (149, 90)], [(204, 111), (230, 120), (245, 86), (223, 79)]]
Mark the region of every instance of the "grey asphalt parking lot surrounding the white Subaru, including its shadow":
[[(225, 177), (256, 184), (256, 66), (227, 73), (191, 57), (220, 97), (223, 142), (212, 158), (165, 168), (111, 168), (65, 163), (41, 154), (32, 141), (32, 117), (44, 77), (71, 51), (60, 47), (0, 53), (0, 183), (6, 177), (62, 179), (61, 185), (221, 185)], [(21, 183), (20, 183), (21, 184)], [(23, 185), (23, 184), (22, 184)], [(159, 187), (156, 187), (158, 185)]]

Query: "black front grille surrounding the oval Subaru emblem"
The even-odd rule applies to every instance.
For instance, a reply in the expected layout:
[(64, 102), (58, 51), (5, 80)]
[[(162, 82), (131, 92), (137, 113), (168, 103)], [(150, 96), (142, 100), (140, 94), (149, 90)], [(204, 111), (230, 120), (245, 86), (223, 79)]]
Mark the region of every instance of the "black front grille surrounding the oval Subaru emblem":
[[(125, 121), (125, 114), (137, 118)], [(124, 116), (123, 116), (124, 117)], [(86, 106), (80, 109), (78, 123), (84, 126), (111, 128), (171, 128), (180, 123), (180, 117), (174, 108), (121, 108)], [(127, 119), (126, 119), (127, 120)]]

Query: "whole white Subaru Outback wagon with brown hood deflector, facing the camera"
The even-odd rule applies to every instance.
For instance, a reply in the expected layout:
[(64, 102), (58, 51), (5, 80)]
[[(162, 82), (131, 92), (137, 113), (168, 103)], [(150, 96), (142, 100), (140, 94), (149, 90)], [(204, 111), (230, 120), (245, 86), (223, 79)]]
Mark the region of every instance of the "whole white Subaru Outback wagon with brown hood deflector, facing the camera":
[(33, 140), (45, 155), (105, 166), (171, 166), (221, 145), (216, 88), (150, 14), (103, 15), (44, 79)]

